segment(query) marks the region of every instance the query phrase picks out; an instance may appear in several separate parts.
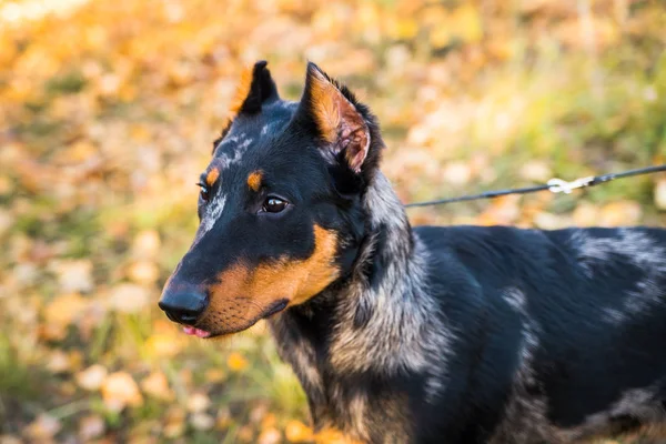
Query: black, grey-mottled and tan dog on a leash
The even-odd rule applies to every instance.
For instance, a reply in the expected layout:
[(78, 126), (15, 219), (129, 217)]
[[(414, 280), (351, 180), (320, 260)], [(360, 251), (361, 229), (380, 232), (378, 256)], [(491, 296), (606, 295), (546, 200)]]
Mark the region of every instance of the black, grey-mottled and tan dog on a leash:
[(376, 118), (314, 63), (291, 102), (258, 62), (231, 114), (159, 305), (203, 339), (268, 320), (315, 430), (420, 444), (662, 431), (664, 230), (412, 228)]

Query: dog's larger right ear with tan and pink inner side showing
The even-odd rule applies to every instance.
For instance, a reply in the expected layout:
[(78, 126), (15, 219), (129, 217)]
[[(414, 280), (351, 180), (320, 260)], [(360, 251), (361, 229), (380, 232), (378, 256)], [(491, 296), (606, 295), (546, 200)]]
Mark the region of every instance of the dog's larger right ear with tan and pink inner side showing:
[(296, 113), (336, 158), (359, 173), (370, 149), (370, 129), (362, 105), (316, 64), (307, 63), (305, 90)]

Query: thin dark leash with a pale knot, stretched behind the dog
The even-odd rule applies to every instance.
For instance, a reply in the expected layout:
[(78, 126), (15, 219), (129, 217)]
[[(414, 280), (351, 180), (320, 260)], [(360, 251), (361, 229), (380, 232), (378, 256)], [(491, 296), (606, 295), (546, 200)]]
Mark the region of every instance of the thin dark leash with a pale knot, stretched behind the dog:
[(628, 170), (628, 171), (624, 171), (620, 173), (588, 175), (586, 178), (576, 179), (571, 182), (554, 178), (554, 179), (551, 179), (548, 182), (546, 182), (543, 185), (514, 188), (514, 189), (509, 189), (509, 190), (486, 191), (485, 193), (463, 195), (460, 198), (440, 199), (436, 201), (407, 203), (405, 206), (414, 208), (414, 206), (441, 205), (444, 203), (475, 201), (475, 200), (480, 200), (480, 199), (493, 199), (493, 198), (498, 198), (501, 195), (508, 195), (508, 194), (527, 194), (527, 193), (535, 193), (537, 191), (546, 191), (546, 190), (548, 190), (552, 193), (571, 194), (571, 192), (573, 190), (576, 190), (579, 188), (589, 188), (589, 186), (598, 185), (599, 183), (610, 182), (612, 180), (615, 180), (615, 179), (629, 178), (632, 175), (652, 174), (652, 173), (658, 173), (662, 171), (666, 171), (666, 164), (656, 165), (656, 167), (647, 167), (647, 168), (638, 168), (636, 170)]

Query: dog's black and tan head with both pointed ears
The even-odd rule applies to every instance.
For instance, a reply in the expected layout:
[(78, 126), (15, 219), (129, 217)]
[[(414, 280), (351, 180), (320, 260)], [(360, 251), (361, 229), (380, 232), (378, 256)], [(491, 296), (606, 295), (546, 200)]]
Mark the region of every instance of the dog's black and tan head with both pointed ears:
[(160, 301), (200, 337), (245, 330), (349, 274), (383, 147), (373, 115), (314, 63), (287, 102), (258, 62), (231, 113), (200, 178), (199, 230)]

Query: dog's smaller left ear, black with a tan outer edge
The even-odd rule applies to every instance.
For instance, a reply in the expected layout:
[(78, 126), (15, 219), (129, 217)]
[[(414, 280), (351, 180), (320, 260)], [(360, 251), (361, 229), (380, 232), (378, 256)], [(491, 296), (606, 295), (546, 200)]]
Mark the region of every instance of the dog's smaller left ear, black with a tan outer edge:
[(266, 64), (265, 60), (261, 60), (243, 71), (231, 104), (232, 118), (238, 114), (256, 114), (263, 103), (279, 99), (278, 88)]

